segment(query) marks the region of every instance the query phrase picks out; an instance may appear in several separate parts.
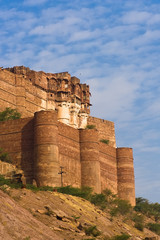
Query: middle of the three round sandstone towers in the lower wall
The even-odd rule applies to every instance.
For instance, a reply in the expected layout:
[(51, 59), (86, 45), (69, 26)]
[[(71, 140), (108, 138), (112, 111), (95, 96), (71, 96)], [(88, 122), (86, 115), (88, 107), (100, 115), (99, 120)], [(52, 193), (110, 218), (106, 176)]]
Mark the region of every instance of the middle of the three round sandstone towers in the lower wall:
[(98, 131), (80, 129), (81, 185), (101, 193)]

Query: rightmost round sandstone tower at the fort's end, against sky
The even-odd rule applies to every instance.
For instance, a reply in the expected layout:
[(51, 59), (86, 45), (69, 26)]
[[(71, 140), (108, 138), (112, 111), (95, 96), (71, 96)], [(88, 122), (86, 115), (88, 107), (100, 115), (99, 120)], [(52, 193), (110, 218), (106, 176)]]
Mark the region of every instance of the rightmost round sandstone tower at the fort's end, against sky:
[(118, 196), (135, 206), (135, 183), (132, 148), (117, 148)]

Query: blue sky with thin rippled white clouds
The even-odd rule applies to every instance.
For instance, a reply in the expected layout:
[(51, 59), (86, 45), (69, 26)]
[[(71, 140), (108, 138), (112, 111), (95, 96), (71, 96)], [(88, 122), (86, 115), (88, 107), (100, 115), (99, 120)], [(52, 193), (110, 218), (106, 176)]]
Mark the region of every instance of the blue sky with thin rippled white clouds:
[(160, 202), (160, 1), (0, 0), (0, 66), (68, 71), (134, 149), (136, 195)]

